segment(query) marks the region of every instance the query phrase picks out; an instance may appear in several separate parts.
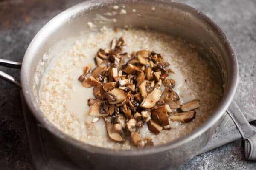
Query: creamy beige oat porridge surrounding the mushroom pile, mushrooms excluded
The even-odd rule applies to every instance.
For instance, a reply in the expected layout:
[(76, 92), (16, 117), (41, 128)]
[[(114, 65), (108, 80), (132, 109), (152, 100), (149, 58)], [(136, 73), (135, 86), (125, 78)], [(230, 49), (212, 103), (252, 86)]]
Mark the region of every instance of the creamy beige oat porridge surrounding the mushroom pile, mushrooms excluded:
[(110, 41), (116, 37), (124, 37), (127, 44), (124, 52), (129, 54), (139, 50), (161, 53), (175, 72), (169, 77), (176, 82), (174, 91), (179, 94), (181, 102), (200, 100), (200, 108), (192, 122), (169, 120), (172, 129), (162, 130), (158, 135), (151, 133), (145, 124), (140, 129), (142, 138), (150, 137), (154, 145), (163, 144), (190, 133), (207, 120), (221, 100), (222, 88), (216, 71), (193, 45), (153, 31), (128, 29), (115, 32), (105, 29), (81, 35), (73, 46), (63, 49), (63, 54), (53, 60), (42, 80), (39, 99), (41, 111), (50, 122), (82, 142), (113, 149), (135, 148), (131, 142), (118, 143), (109, 139), (103, 119), (92, 123), (94, 117), (88, 115), (87, 100), (94, 98), (93, 87), (84, 88), (78, 80), (84, 66), (94, 65), (93, 58), (99, 48), (109, 48)]

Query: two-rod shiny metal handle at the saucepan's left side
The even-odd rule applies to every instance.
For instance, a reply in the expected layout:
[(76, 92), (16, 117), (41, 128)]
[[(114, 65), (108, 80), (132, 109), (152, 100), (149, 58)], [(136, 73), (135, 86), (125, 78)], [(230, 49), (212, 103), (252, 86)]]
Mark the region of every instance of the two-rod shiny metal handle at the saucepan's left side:
[[(10, 60), (7, 60), (7, 59), (0, 59), (0, 66), (20, 69), (21, 68), (21, 63), (20, 62), (15, 62), (15, 61), (10, 61)], [(15, 85), (18, 88), (21, 88), (19, 80), (17, 80), (15, 77), (12, 77), (9, 74), (6, 74), (3, 71), (0, 71), (0, 78), (6, 80), (7, 82)]]

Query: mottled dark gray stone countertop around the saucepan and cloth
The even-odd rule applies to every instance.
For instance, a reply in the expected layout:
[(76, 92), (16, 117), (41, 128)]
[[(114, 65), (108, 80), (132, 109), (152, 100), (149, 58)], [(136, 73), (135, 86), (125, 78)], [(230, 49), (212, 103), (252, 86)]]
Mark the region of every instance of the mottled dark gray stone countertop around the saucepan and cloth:
[[(0, 58), (22, 61), (29, 42), (50, 18), (82, 0), (0, 0)], [(229, 37), (239, 61), (235, 100), (256, 114), (256, 1), (180, 0), (214, 20)], [(20, 71), (0, 67), (14, 77)], [(195, 157), (179, 170), (255, 170), (244, 159), (241, 140)], [(33, 170), (19, 89), (0, 80), (0, 169)]]

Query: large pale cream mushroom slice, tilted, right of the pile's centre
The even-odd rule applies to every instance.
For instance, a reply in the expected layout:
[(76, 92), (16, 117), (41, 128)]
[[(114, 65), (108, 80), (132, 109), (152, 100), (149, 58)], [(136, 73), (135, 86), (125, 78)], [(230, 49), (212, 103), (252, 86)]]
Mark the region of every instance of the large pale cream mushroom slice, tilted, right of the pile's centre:
[(160, 99), (162, 91), (155, 88), (140, 104), (142, 108), (153, 108), (156, 102)]

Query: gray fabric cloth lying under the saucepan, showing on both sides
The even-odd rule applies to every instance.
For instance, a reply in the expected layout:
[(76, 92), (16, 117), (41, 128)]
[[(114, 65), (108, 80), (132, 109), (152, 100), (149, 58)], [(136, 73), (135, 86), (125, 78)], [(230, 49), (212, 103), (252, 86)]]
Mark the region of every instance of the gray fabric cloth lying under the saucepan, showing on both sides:
[[(36, 170), (80, 170), (52, 142), (51, 134), (38, 125), (24, 102), (23, 114)], [(256, 117), (243, 114), (236, 103), (232, 102), (212, 139), (198, 154), (242, 138), (245, 140), (246, 159), (256, 161), (256, 126), (250, 124), (255, 121)]]

